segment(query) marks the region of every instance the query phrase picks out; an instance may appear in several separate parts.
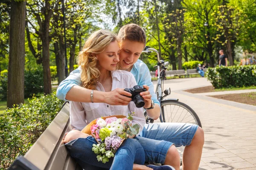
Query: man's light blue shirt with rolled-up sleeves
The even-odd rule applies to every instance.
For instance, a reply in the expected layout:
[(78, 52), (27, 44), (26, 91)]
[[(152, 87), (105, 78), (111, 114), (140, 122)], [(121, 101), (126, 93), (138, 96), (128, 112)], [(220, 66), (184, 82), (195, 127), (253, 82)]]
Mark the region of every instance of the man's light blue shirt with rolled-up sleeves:
[[(72, 71), (66, 79), (64, 79), (57, 88), (57, 97), (61, 100), (68, 101), (66, 99), (66, 94), (74, 85), (81, 86), (81, 67), (77, 68), (76, 70)], [(154, 85), (151, 82), (151, 75), (148, 69), (148, 66), (138, 59), (137, 62), (133, 65), (131, 69), (131, 73), (134, 75), (135, 80), (138, 85), (142, 86), (147, 85), (149, 87), (149, 92), (151, 94), (151, 99), (154, 101), (155, 104), (160, 105), (159, 101), (157, 100), (157, 95), (154, 92)]]

